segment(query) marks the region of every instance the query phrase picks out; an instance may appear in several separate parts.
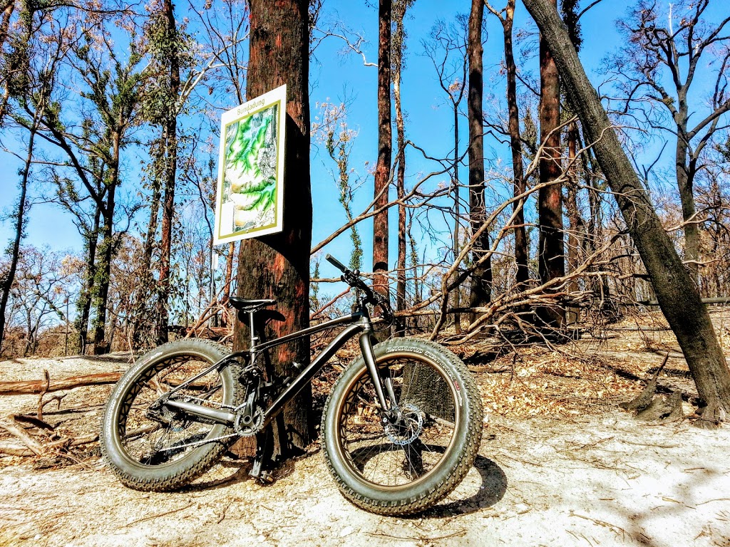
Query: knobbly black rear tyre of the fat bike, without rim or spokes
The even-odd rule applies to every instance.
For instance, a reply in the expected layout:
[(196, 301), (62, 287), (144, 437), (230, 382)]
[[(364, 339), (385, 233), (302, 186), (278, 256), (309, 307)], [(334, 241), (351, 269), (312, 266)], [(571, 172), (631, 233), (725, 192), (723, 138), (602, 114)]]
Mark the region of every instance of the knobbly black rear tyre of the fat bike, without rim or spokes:
[[(169, 342), (142, 357), (126, 371), (112, 389), (101, 422), (101, 455), (112, 473), (126, 486), (142, 491), (169, 492), (191, 483), (215, 465), (237, 437), (203, 444), (192, 449), (185, 457), (162, 465), (144, 465), (126, 453), (120, 434), (120, 416), (134, 387), (145, 381), (145, 375), (155, 366), (177, 356), (191, 356), (198, 360), (219, 361), (228, 354), (225, 346), (196, 338)], [(227, 365), (218, 371), (223, 385), (223, 403), (235, 406), (242, 399), (242, 385), (235, 365)], [(228, 435), (233, 428), (215, 424), (208, 433), (211, 436)]]

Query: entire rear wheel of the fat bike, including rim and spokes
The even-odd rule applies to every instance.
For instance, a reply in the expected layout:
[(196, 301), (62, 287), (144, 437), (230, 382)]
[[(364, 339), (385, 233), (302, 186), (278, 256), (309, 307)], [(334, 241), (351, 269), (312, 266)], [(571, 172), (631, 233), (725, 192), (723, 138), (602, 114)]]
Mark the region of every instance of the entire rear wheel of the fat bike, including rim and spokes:
[[(123, 484), (158, 492), (178, 489), (210, 469), (236, 440), (232, 427), (157, 403), (226, 354), (224, 346), (211, 341), (174, 341), (147, 352), (118, 381), (100, 437), (101, 454)], [(234, 369), (213, 368), (172, 397), (232, 408), (242, 397)]]

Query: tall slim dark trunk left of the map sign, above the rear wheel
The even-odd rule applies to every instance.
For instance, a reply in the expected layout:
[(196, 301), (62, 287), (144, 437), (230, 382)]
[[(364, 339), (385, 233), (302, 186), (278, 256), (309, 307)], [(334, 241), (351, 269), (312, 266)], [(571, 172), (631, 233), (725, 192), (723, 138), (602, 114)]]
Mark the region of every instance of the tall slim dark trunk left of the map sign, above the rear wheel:
[[(174, 6), (172, 0), (164, 0), (163, 12), (167, 23), (166, 36), (173, 40), (177, 35)], [(160, 244), (160, 276), (158, 279), (157, 298), (157, 343), (167, 341), (167, 323), (169, 318), (168, 300), (170, 295), (170, 251), (172, 249), (172, 224), (175, 214), (175, 178), (177, 175), (177, 99), (180, 91), (180, 61), (178, 51), (173, 49), (169, 62), (169, 95), (170, 112), (164, 125), (164, 201), (162, 206), (161, 244)]]

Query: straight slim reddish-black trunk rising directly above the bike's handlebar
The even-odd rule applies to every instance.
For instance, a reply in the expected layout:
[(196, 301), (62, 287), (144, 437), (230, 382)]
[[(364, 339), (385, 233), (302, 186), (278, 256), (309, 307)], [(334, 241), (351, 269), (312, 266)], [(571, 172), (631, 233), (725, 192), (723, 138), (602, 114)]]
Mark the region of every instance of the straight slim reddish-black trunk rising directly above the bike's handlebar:
[[(388, 182), (391, 178), (391, 0), (380, 0), (378, 21), (376, 209), (388, 203)], [(373, 289), (389, 298), (385, 273), (388, 271), (388, 209), (373, 217), (372, 271)]]

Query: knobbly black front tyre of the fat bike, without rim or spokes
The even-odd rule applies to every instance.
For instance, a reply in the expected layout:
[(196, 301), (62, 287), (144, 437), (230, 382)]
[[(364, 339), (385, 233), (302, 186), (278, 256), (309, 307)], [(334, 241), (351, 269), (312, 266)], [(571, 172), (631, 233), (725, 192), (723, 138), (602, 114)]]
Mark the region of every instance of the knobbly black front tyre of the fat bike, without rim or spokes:
[(329, 395), (322, 418), (323, 452), (331, 475), (340, 491), (358, 507), (382, 515), (407, 515), (431, 507), (464, 479), (474, 465), (482, 437), (483, 410), (479, 389), (469, 370), (455, 354), (434, 342), (414, 338), (398, 338), (374, 346), (377, 362), (390, 354), (412, 354), (415, 360), (425, 357), (444, 371), (456, 387), (458, 423), (453, 441), (444, 457), (423, 481), (377, 488), (353, 470), (343, 456), (339, 442), (339, 413), (348, 393), (356, 389), (355, 382), (366, 368), (362, 357), (354, 360), (342, 373)]

